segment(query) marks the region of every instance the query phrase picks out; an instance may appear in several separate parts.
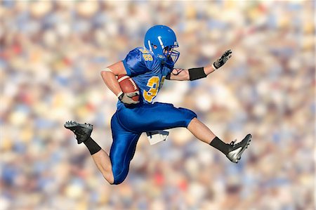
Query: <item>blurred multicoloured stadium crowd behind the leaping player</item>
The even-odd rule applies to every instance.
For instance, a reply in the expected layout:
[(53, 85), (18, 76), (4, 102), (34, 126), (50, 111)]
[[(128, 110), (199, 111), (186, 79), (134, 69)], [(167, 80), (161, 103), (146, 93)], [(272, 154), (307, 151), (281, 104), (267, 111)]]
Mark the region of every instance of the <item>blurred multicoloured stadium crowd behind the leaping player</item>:
[[(0, 209), (315, 209), (315, 1), (1, 1)], [(109, 185), (67, 120), (107, 152), (117, 98), (100, 71), (152, 25), (176, 32), (176, 67), (232, 58), (156, 101), (194, 110), (238, 164), (170, 130), (141, 136), (129, 176)]]

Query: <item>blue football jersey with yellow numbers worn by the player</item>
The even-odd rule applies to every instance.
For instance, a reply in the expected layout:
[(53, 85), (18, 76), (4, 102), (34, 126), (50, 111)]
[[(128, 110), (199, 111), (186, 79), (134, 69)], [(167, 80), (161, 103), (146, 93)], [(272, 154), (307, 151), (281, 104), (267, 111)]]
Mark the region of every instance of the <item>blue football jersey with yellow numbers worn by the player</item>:
[(153, 53), (143, 47), (130, 51), (123, 64), (127, 75), (133, 77), (140, 88), (140, 103), (152, 103), (162, 88), (166, 75), (173, 69), (171, 65), (162, 65)]

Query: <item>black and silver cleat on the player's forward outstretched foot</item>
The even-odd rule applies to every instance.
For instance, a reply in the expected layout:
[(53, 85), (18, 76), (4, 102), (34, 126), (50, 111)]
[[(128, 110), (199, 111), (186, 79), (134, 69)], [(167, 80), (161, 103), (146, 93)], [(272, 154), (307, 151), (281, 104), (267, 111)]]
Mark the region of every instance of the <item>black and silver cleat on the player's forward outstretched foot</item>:
[(235, 144), (235, 141), (232, 141), (229, 145), (228, 154), (226, 157), (230, 159), (231, 162), (238, 163), (238, 160), (242, 157), (242, 152), (246, 150), (250, 141), (251, 141), (251, 134), (248, 134), (241, 142)]

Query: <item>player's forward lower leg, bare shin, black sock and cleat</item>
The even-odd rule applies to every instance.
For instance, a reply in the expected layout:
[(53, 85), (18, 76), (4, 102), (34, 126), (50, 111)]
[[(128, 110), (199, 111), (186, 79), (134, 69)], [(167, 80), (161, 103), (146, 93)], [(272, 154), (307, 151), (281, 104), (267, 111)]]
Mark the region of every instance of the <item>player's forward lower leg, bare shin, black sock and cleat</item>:
[(251, 135), (248, 134), (242, 141), (235, 144), (224, 143), (220, 138), (218, 138), (205, 124), (199, 121), (197, 118), (193, 118), (188, 124), (187, 129), (199, 140), (215, 147), (216, 149), (223, 152), (230, 161), (237, 163), (241, 158), (242, 153), (248, 147), (251, 141)]

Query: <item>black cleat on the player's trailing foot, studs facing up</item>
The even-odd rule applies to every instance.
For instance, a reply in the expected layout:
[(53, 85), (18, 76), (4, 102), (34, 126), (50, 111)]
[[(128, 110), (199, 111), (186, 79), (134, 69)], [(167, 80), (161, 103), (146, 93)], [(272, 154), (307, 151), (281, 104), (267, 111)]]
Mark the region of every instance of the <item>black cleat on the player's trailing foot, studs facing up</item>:
[(74, 132), (75, 138), (78, 141), (78, 144), (83, 143), (87, 140), (93, 130), (93, 125), (91, 124), (79, 124), (75, 121), (67, 121), (64, 124), (66, 129), (70, 129), (70, 131)]

